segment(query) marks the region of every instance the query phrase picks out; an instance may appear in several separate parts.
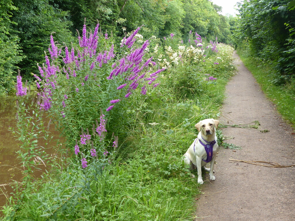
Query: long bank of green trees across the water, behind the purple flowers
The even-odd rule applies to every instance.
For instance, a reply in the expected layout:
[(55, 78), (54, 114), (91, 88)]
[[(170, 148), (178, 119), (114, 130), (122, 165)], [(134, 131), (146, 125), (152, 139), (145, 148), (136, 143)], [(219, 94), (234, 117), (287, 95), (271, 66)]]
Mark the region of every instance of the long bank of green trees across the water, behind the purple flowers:
[[(24, 79), (32, 81), (37, 74), (37, 63), (43, 63), (49, 36), (61, 45), (76, 46), (76, 29), (86, 18), (89, 29), (99, 22), (103, 32), (123, 37), (144, 25), (144, 37), (163, 38), (170, 33), (188, 39), (190, 30), (208, 40), (230, 42), (228, 19), (218, 14), (221, 7), (207, 0), (194, 1), (134, 1), (134, 0), (1, 0), (1, 65), (0, 93), (13, 88), (17, 68)], [(3, 25), (4, 24), (4, 25)], [(6, 49), (7, 48), (7, 49)], [(3, 50), (2, 50), (3, 49)], [(2, 65), (3, 64), (3, 65)], [(3, 69), (3, 70), (2, 70)]]

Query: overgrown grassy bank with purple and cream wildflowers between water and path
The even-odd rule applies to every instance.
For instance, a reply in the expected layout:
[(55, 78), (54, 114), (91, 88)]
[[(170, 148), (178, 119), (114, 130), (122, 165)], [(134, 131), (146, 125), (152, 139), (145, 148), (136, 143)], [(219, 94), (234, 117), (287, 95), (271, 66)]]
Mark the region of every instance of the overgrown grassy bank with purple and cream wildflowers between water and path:
[[(181, 159), (195, 123), (219, 116), (235, 72), (233, 48), (193, 32), (187, 43), (173, 33), (163, 43), (143, 33), (138, 27), (117, 40), (84, 25), (75, 47), (50, 36), (36, 102), (17, 76), (11, 131), (21, 143), (23, 179), (4, 220), (191, 217), (199, 189)], [(54, 154), (40, 144), (51, 139), (50, 123), (65, 138)]]

